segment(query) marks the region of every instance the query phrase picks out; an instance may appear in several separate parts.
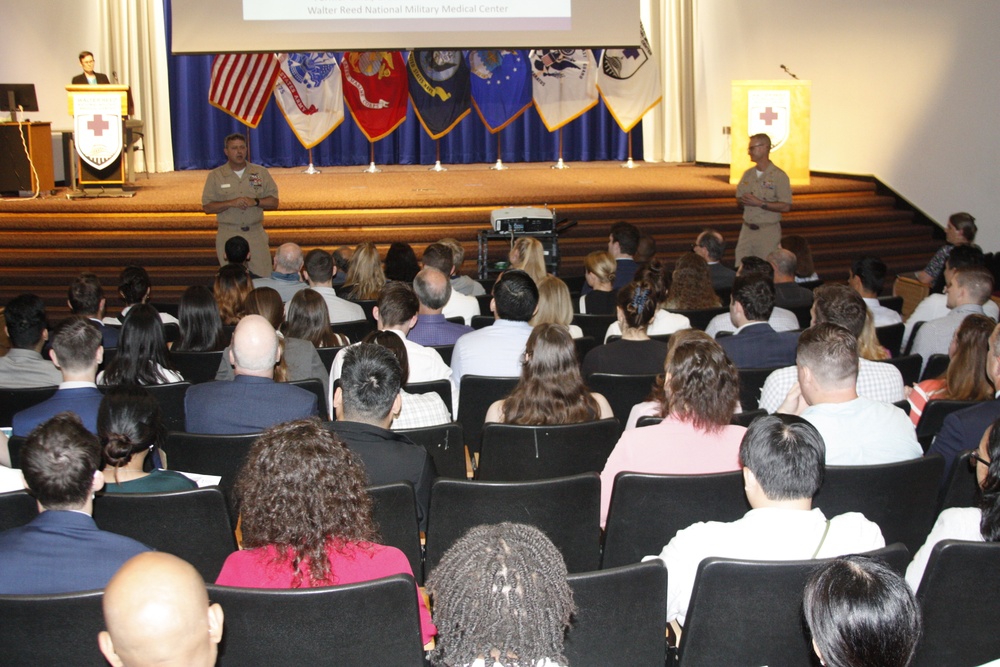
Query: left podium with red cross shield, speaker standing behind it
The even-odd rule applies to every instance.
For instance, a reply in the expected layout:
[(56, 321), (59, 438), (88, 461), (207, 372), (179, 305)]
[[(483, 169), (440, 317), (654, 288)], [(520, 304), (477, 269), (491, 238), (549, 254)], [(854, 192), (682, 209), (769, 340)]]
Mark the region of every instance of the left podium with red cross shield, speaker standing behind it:
[(124, 119), (128, 114), (128, 86), (69, 85), (69, 113), (80, 185), (125, 183)]

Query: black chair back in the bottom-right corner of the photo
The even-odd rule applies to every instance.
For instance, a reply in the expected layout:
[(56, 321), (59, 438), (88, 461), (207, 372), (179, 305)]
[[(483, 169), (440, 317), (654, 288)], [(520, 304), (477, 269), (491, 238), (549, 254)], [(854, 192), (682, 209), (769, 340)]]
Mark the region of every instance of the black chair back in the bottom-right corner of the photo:
[(1000, 656), (1000, 543), (943, 540), (917, 589), (924, 630), (913, 667), (979, 665)]

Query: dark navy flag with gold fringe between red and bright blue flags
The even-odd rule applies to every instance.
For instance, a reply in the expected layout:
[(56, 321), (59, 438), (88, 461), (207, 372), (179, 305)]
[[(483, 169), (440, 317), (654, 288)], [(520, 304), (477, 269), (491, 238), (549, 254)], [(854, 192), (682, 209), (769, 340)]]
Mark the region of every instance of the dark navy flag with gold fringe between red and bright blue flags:
[(472, 110), (469, 67), (461, 51), (410, 51), (410, 101), (431, 139), (451, 132)]

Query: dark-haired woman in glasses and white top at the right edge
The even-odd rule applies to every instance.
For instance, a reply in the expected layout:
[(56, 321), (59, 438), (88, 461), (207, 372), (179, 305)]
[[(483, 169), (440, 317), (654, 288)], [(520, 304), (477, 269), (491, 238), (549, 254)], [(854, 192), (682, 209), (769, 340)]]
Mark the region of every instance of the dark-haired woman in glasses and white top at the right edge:
[(986, 429), (969, 463), (979, 481), (979, 507), (949, 507), (938, 515), (906, 568), (906, 583), (913, 590), (920, 586), (931, 551), (941, 540), (1000, 542), (1000, 419)]

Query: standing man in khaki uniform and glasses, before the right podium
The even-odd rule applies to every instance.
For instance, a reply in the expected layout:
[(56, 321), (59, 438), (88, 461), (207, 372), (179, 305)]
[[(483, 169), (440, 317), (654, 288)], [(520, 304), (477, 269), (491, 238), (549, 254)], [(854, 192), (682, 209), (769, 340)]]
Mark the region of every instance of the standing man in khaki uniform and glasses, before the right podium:
[(771, 138), (750, 137), (747, 148), (755, 166), (736, 186), (736, 200), (743, 205), (743, 227), (736, 243), (736, 264), (747, 255), (767, 257), (781, 241), (781, 214), (792, 210), (792, 186), (788, 175), (770, 159)]

